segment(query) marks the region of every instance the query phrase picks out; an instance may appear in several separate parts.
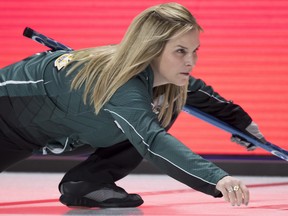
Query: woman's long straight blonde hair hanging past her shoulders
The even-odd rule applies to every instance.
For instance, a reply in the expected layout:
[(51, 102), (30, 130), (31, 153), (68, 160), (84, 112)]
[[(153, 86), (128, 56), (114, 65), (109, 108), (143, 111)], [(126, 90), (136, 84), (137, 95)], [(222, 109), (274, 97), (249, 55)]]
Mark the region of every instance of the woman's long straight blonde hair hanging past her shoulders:
[[(166, 3), (150, 7), (134, 18), (120, 44), (74, 52), (72, 62), (76, 63), (69, 73), (81, 65), (82, 69), (73, 79), (72, 88), (85, 85), (84, 101), (90, 97), (97, 114), (119, 87), (162, 53), (168, 40), (191, 29), (202, 30), (182, 5)], [(154, 98), (163, 95), (163, 104), (169, 104), (162, 106), (158, 115), (166, 127), (173, 113), (179, 113), (184, 106), (187, 86), (166, 84), (155, 87), (153, 92)]]

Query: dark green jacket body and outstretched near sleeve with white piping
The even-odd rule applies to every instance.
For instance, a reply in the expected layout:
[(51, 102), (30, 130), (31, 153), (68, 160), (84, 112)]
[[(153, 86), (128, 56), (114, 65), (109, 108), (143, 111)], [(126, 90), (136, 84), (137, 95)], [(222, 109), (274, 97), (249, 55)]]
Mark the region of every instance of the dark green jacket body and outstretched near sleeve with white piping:
[[(0, 97), (9, 98), (11, 131), (43, 151), (62, 153), (83, 144), (108, 147), (129, 139), (138, 152), (164, 173), (213, 196), (216, 183), (228, 175), (193, 153), (159, 125), (153, 112), (153, 72), (146, 68), (120, 87), (98, 115), (82, 99), (83, 88), (70, 89), (74, 74), (54, 66), (64, 51), (45, 52), (0, 70)], [(194, 97), (194, 99), (192, 99)], [(241, 107), (215, 93), (203, 81), (190, 78), (187, 104), (244, 129), (251, 118)], [(227, 112), (228, 111), (228, 112)], [(6, 111), (7, 112), (7, 111)], [(9, 120), (9, 116), (14, 116)]]

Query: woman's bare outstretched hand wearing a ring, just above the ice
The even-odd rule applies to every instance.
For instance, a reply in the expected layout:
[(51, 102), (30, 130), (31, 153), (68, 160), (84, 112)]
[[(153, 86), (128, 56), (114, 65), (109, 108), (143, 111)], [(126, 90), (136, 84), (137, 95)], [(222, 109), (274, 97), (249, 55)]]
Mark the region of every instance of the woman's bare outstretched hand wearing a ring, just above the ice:
[(237, 178), (225, 176), (217, 182), (216, 189), (223, 194), (225, 201), (230, 202), (232, 206), (248, 205), (249, 203), (249, 190)]

